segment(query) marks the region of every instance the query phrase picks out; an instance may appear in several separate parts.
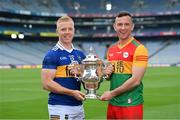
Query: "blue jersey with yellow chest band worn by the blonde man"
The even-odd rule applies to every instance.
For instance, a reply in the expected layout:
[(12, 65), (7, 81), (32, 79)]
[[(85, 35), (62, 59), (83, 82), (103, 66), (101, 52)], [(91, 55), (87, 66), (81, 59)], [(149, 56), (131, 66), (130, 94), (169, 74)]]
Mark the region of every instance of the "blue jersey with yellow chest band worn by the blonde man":
[[(71, 64), (72, 61), (81, 64), (81, 61), (85, 57), (82, 51), (74, 49), (74, 47), (68, 51), (60, 43), (57, 43), (56, 46), (46, 54), (42, 68), (56, 69), (55, 82), (69, 89), (80, 90), (81, 83), (70, 74), (68, 65)], [(77, 106), (81, 105), (82, 102), (72, 96), (50, 92), (48, 104)]]

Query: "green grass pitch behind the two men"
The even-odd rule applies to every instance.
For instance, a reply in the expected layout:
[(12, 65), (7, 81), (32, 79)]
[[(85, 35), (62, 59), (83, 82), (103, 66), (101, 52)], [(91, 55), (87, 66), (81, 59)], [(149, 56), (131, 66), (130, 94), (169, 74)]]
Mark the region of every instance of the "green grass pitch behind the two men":
[[(144, 119), (180, 119), (180, 67), (148, 68), (144, 83)], [(109, 89), (105, 81), (100, 94)], [(40, 69), (0, 69), (0, 119), (48, 119)], [(107, 102), (86, 100), (86, 119), (105, 119)]]

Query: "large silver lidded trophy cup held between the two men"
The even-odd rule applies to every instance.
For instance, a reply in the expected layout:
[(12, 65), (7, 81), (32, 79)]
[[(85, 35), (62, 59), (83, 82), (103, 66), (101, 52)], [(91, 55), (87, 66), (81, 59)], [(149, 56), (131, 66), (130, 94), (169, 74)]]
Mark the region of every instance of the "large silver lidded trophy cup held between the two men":
[(80, 75), (78, 79), (82, 82), (86, 90), (85, 98), (97, 99), (99, 96), (96, 91), (103, 81), (103, 61), (100, 60), (90, 47), (89, 54), (82, 61), (80, 66)]

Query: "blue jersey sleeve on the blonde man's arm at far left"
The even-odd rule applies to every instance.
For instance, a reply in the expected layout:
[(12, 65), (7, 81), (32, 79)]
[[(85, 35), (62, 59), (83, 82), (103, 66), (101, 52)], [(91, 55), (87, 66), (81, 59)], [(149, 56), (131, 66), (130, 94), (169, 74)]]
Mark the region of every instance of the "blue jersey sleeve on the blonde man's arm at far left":
[(49, 51), (44, 57), (42, 68), (43, 69), (56, 69), (57, 68), (57, 56), (52, 51)]

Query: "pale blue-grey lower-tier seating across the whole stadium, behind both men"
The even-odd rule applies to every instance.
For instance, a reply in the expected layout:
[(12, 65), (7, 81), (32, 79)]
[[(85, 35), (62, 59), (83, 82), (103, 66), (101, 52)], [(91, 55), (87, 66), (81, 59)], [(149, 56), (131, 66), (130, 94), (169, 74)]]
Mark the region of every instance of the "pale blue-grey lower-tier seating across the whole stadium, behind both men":
[[(45, 53), (55, 45), (56, 42), (13, 42), (4, 41), (0, 44), (1, 64), (41, 64)], [(83, 42), (82, 47), (75, 42), (74, 46), (83, 49), (87, 54), (90, 46), (100, 59), (105, 60), (106, 46), (108, 42)], [(145, 46), (149, 51), (149, 64), (175, 64), (180, 62), (180, 42), (175, 41), (170, 45), (163, 44), (163, 41), (146, 41)], [(165, 46), (166, 45), (166, 46)], [(163, 49), (162, 47), (165, 46)], [(8, 54), (7, 54), (8, 53)]]

